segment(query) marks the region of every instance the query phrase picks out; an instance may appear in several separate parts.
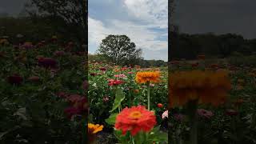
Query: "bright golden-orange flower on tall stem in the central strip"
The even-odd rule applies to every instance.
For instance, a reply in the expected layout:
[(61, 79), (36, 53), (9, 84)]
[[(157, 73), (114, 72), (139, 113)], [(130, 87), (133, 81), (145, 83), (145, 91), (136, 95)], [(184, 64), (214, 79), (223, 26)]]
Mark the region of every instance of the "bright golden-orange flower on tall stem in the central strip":
[(146, 82), (154, 82), (157, 83), (159, 82), (160, 78), (160, 72), (159, 71), (142, 71), (142, 72), (137, 72), (136, 74), (136, 82), (138, 83), (146, 83)]

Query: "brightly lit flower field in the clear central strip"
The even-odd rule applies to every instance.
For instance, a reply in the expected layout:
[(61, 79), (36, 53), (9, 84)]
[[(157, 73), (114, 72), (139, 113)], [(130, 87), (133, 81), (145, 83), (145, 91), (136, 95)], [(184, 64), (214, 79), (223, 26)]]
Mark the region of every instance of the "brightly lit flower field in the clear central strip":
[[(167, 142), (167, 69), (89, 63), (89, 122), (103, 126), (96, 141)], [(166, 113), (164, 114), (164, 112)]]

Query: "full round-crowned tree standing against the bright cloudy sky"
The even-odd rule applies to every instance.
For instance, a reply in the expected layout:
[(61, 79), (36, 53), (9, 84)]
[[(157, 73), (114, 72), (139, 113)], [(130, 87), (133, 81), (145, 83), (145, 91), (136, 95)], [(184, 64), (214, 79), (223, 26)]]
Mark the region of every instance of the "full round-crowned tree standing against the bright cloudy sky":
[(126, 35), (112, 34), (102, 40), (98, 52), (106, 55), (111, 62), (118, 65), (134, 62), (134, 60), (141, 58), (142, 55), (142, 50), (136, 49), (135, 43), (130, 42), (130, 38)]

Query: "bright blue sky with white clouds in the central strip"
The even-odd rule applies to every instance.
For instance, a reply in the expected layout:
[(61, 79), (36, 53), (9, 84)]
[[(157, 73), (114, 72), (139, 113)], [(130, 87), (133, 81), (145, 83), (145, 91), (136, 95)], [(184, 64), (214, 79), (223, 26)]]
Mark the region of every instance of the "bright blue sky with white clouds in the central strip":
[(167, 0), (89, 0), (89, 53), (109, 34), (126, 34), (144, 59), (168, 58)]

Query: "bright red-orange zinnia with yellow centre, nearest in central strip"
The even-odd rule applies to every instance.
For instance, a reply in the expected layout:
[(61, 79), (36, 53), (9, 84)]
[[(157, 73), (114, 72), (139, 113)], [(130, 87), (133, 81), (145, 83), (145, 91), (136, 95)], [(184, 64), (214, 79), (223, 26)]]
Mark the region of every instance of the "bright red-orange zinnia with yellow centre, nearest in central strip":
[(145, 106), (125, 108), (118, 114), (114, 127), (126, 134), (130, 130), (134, 136), (139, 131), (149, 132), (156, 125), (154, 112), (146, 110)]

